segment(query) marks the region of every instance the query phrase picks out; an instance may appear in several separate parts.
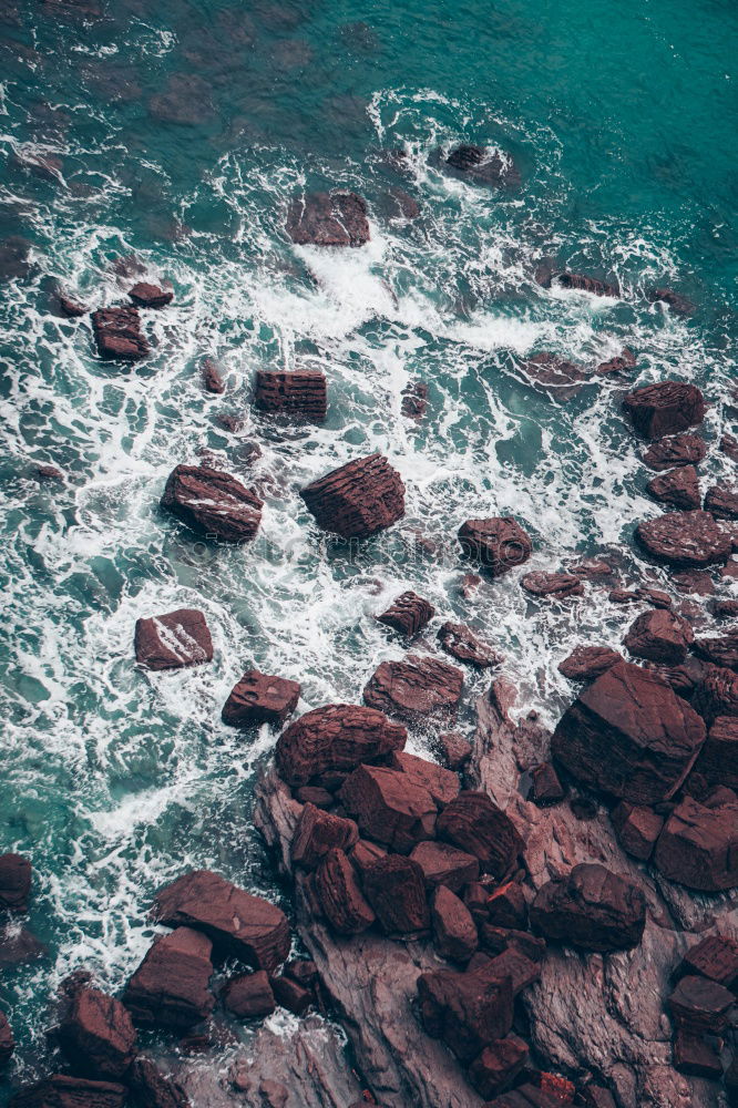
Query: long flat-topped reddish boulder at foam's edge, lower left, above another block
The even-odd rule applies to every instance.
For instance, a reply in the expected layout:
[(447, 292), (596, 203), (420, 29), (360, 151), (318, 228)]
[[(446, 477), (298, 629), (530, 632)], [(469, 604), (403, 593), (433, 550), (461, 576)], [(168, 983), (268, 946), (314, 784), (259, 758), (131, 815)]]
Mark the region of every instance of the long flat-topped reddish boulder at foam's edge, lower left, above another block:
[(287, 916), (211, 870), (191, 870), (154, 899), (152, 916), (167, 927), (196, 927), (218, 957), (240, 958), (258, 970), (275, 970), (289, 953)]

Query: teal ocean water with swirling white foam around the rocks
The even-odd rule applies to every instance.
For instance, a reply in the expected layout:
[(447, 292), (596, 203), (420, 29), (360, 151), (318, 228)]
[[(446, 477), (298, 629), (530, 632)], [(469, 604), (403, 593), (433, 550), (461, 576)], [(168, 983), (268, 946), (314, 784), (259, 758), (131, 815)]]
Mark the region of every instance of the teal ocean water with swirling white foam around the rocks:
[[(591, 366), (627, 345), (633, 379), (705, 389), (710, 442), (736, 430), (735, 3), (100, 2), (101, 18), (74, 0), (0, 12), (0, 239), (30, 250), (20, 274), (0, 254), (0, 853), (32, 859), (28, 925), (49, 947), (0, 968), (13, 1085), (44, 1064), (66, 973), (125, 982), (165, 880), (207, 865), (280, 895), (250, 822), (275, 736), (219, 718), (244, 668), (299, 679), (300, 710), (358, 700), (402, 653), (371, 615), (413, 587), (502, 650), (521, 708), (553, 721), (571, 696), (556, 663), (583, 639), (619, 644), (631, 617), (593, 589), (537, 606), (511, 574), (459, 595), (468, 516), (514, 514), (534, 568), (622, 547), (624, 579), (647, 572), (631, 536), (657, 507), (619, 414), (625, 384), (557, 403), (521, 358)], [(512, 154), (521, 188), (449, 177), (438, 151), (459, 142)], [(24, 167), (40, 154), (60, 160), (51, 179)], [(289, 198), (334, 185), (366, 196), (371, 242), (294, 246)], [(545, 258), (615, 277), (622, 298), (542, 288)], [(143, 365), (103, 363), (89, 317), (53, 312), (53, 285), (98, 307), (142, 270), (175, 301), (146, 314)], [(654, 284), (697, 311), (648, 302)], [(222, 398), (203, 392), (204, 355), (227, 372)], [(328, 377), (318, 430), (250, 411), (255, 370), (296, 366)], [(400, 411), (417, 378), (420, 424)], [(202, 450), (264, 496), (253, 546), (199, 543), (160, 513), (172, 466)], [(347, 557), (298, 490), (371, 450), (402, 474), (408, 514)], [(39, 483), (39, 464), (65, 482)], [(704, 471), (729, 465), (714, 451)], [(181, 606), (206, 613), (213, 664), (137, 670), (135, 619)], [(462, 727), (483, 688), (469, 677)]]

